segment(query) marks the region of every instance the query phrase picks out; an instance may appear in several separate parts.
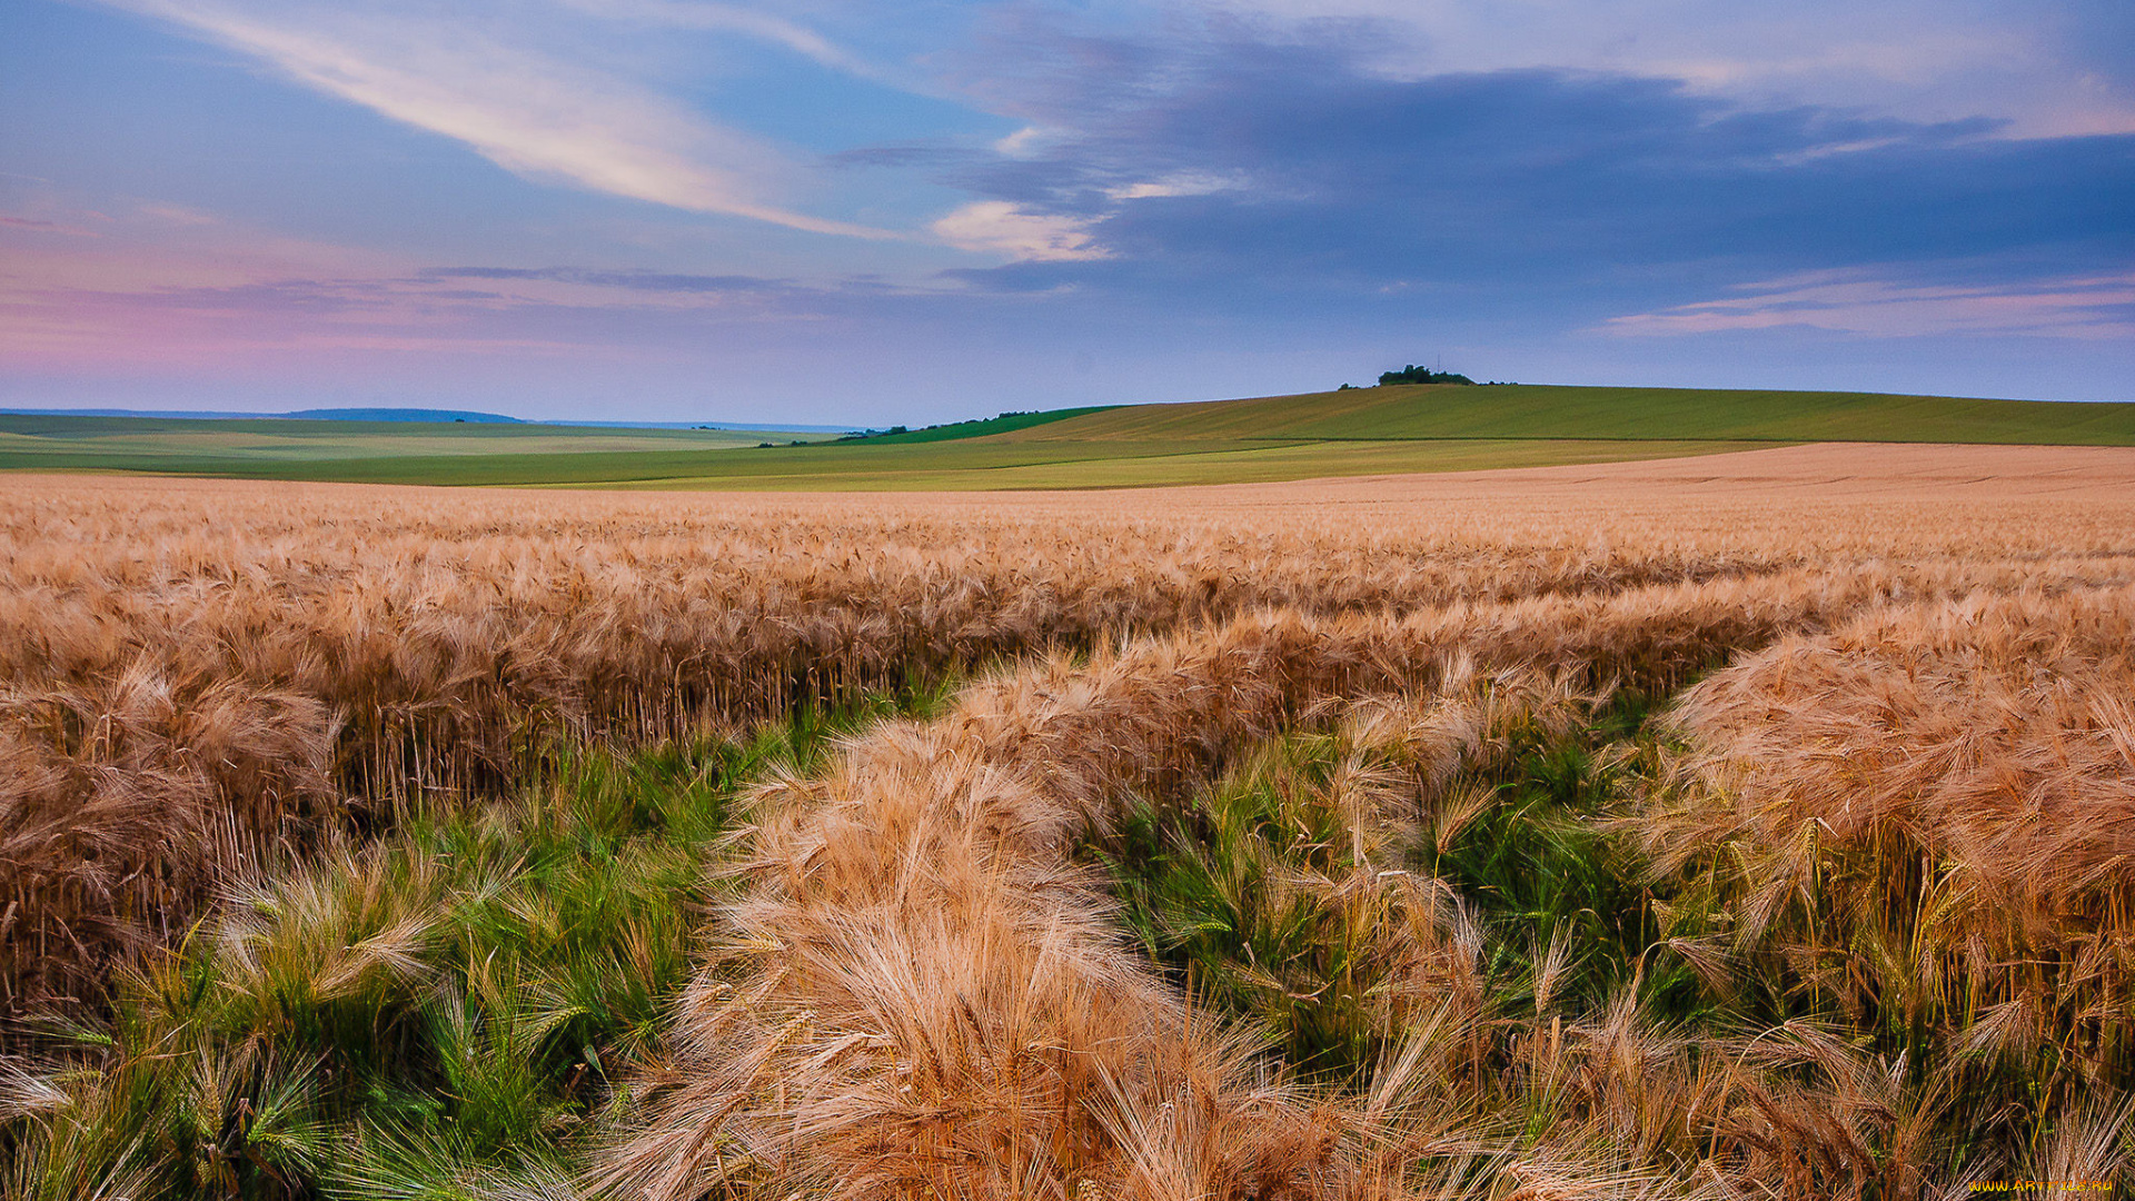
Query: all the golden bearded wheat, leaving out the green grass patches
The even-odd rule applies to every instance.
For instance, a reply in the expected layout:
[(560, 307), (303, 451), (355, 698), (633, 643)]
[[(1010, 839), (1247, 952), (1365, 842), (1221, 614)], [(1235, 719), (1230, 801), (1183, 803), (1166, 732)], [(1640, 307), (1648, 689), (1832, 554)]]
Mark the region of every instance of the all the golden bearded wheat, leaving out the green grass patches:
[[(1356, 906), (1339, 915), (1358, 932), (1401, 915), (1420, 951), (1394, 962), (1448, 998), (1405, 1021), (1443, 1047), (1381, 1071), (1369, 1098), (1307, 1090), (1228, 1026), (1189, 1024), (1185, 998), (1121, 949), (1106, 902), (1065, 859), (1076, 831), (1117, 821), (1121, 797), (1189, 789), (1326, 705), (1390, 690), (1409, 697), (1373, 705), (1428, 714), (1413, 729), (1433, 733), (1403, 737), (1418, 778), (1454, 789), (1426, 814), (1450, 844), (1480, 812), (1445, 767), (1486, 752), (1475, 680), (1535, 669), (1571, 695), (1665, 692), (1736, 654), (1685, 701), (1674, 791), (1627, 818), (1663, 863), (1706, 872), (1695, 900), (1712, 904), (1697, 913), (1731, 921), (1672, 930), (1667, 947), (1721, 983), (1759, 957), (1791, 970), (1789, 955), (1832, 951), (1787, 910), (1800, 887), (1712, 863), (1712, 831), (1734, 829), (1749, 859), (1729, 863), (1804, 880), (1800, 833), (1823, 827), (1800, 818), (1832, 810), (1789, 821), (1785, 784), (1757, 793), (1800, 767), (1823, 789), (1810, 806), (1870, 814), (1851, 861), (1862, 872), (1921, 848), (1958, 861), (1917, 908), (1866, 876), (1819, 865), (1806, 880), (1810, 902), (1855, 921), (1883, 972), (1877, 1002), (1911, 1004), (1932, 1036), (2000, 1058), (2073, 1021), (2094, 1032), (2069, 1043), (2082, 1062), (2122, 1062), (2109, 1034), (2126, 1028), (2118, 827), (2112, 806), (2069, 797), (2124, 778), (2120, 684), (2099, 665), (2135, 579), (2126, 472), (2112, 477), (2112, 455), (2065, 455), (2067, 474), (2047, 481), (2039, 451), (2000, 449), (1738, 459), (1755, 466), (871, 498), (865, 511), (852, 498), (23, 479), (0, 502), (9, 1000), (94, 996), (113, 960), (181, 938), (213, 895), (273, 861), (508, 782), (551, 742), (732, 729), (816, 697), (991, 671), (942, 722), (890, 727), (822, 780), (764, 797), (777, 812), (743, 874), (752, 887), (722, 919), (734, 938), (675, 1024), (690, 1069), (636, 1116), (613, 1180), (694, 1195), (709, 1186), (692, 1148), (719, 1145), (734, 1156), (713, 1171), (737, 1182), (856, 1192), (1089, 1180), (1121, 1199), (1401, 1195), (1420, 1186), (1401, 1167), (1416, 1156), (1435, 1156), (1450, 1192), (1486, 1192), (1484, 1175), (1524, 1197), (1830, 1180), (1904, 1192), (1926, 1180), (1949, 1098), (1917, 1088), (1902, 1058), (1870, 1064), (1791, 1024), (1742, 1045), (1691, 1039), (1629, 1002), (1563, 1015), (1556, 972), (1535, 981), (1533, 1026), (1501, 1043), (1503, 1017), (1462, 1000), (1490, 987), (1462, 968), (1488, 932), (1435, 885), (1373, 908), (1364, 885), (1328, 880), (1324, 904)], [(1834, 474), (1853, 483), (1813, 483)], [(2007, 622), (2033, 633), (2007, 648), (1975, 637), (1979, 615), (2003, 609), (2030, 613)], [(1010, 656), (1025, 665), (989, 669)], [(1992, 686), (1971, 680), (1981, 671)], [(1947, 712), (1949, 731), (1921, 739), (1911, 716), (1904, 729), (1849, 716), (1862, 680), (1887, 701), (1875, 714)], [(1727, 688), (1751, 697), (1746, 716), (1702, 716), (1740, 707)], [(1755, 709), (1764, 692), (1776, 709)], [(2028, 718), (2011, 724), (2011, 707)], [(1770, 735), (1738, 727), (1819, 731), (1851, 774), (1819, 776), (1785, 739), (1766, 754), (1757, 737)], [(1921, 754), (1943, 767), (1909, 776)], [(1986, 761), (2009, 771), (1966, 776)], [(1898, 795), (1947, 782), (1926, 801)], [(1386, 797), (1360, 769), (1330, 804), (1360, 831)], [(1994, 821), (2011, 804), (2039, 814), (2022, 838)], [(2073, 857), (2067, 880), (2037, 868), (2041, 848)], [(1994, 855), (2013, 859), (1973, 861)], [(1981, 889), (2018, 898), (2009, 930), (1964, 908)], [(2030, 947), (2039, 923), (2075, 932), (2056, 964), (1996, 957)], [(1913, 953), (1960, 932), (1983, 951)], [(762, 955), (769, 945), (781, 953)], [(722, 992), (719, 974), (743, 987)], [(1958, 998), (1954, 977), (1977, 987)], [(2045, 1007), (2047, 985), (2071, 981), (2073, 1000)], [(1947, 1019), (1951, 998), (1971, 1009)], [(1834, 1004), (1847, 1000), (1840, 989)], [(1567, 1098), (1571, 1128), (1518, 1152), (1437, 1101), (1418, 1105), (1422, 1079), (1465, 1073), (1462, 1088), (1482, 1090), (1482, 1047), (1516, 1049), (1522, 1088)], [(1727, 1062), (1740, 1071), (1714, 1066)], [(2090, 1079), (2073, 1071), (2052, 1088)], [(1456, 1109), (1482, 1105), (1460, 1096)], [(2069, 1113), (2037, 1163), (2109, 1158), (2097, 1148), (2118, 1137), (2112, 1113)], [(1725, 1163), (1655, 1167), (1655, 1148), (1693, 1137)], [(1597, 1156), (1599, 1143), (1627, 1150)]]

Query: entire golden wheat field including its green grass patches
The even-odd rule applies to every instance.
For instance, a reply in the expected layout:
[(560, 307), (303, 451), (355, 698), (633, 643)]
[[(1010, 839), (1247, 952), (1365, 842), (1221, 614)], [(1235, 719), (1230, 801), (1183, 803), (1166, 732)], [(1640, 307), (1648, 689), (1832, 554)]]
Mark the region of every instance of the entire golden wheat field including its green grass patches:
[(2135, 1173), (2135, 451), (0, 547), (9, 1199)]

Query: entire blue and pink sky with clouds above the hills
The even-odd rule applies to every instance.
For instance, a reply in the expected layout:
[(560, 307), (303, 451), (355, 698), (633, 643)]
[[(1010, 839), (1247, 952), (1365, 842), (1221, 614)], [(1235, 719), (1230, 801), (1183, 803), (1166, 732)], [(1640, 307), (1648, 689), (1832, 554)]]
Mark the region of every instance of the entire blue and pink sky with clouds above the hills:
[(0, 406), (2135, 400), (2126, 0), (9, 0)]

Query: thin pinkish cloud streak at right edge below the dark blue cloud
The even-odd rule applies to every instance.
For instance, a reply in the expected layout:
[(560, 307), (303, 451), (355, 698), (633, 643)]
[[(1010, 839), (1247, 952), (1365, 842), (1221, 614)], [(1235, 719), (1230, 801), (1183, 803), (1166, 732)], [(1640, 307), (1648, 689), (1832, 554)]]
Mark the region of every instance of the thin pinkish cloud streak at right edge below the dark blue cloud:
[(1610, 318), (1620, 336), (1808, 327), (1875, 338), (2028, 333), (2135, 338), (2135, 274), (2015, 284), (1902, 284), (1817, 271), (1742, 284), (1744, 295)]

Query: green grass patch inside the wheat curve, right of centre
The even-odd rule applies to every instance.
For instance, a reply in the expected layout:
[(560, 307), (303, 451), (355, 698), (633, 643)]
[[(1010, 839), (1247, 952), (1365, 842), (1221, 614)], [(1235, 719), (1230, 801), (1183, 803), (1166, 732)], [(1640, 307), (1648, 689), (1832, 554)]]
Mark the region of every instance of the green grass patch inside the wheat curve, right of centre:
[(1189, 797), (1144, 799), (1087, 855), (1151, 957), (1307, 1075), (1369, 1077), (1460, 981), (1505, 1015), (1633, 992), (1652, 1015), (1710, 1017), (1695, 974), (1648, 955), (1644, 861), (1608, 827), (1644, 718), (1627, 692), (1569, 727), (1505, 722), (1439, 799), (1398, 746), (1294, 733)]

